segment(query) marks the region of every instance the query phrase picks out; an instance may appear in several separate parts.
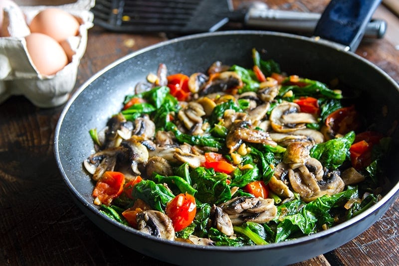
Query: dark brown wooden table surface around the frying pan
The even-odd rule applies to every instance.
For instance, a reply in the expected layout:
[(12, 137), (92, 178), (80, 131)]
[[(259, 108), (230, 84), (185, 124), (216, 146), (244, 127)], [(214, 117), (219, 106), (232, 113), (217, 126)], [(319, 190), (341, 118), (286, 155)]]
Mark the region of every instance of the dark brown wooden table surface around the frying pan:
[[(272, 8), (317, 12), (327, 2), (267, 1)], [(399, 19), (385, 5), (375, 17), (388, 21), (385, 38), (363, 41), (356, 53), (399, 81)], [(121, 34), (94, 26), (75, 89), (114, 60), (165, 39), (162, 33)], [(74, 204), (53, 155), (62, 108), (38, 108), (23, 96), (0, 105), (0, 265), (165, 265), (113, 240)], [(399, 200), (359, 237), (295, 265), (399, 265), (398, 216)]]

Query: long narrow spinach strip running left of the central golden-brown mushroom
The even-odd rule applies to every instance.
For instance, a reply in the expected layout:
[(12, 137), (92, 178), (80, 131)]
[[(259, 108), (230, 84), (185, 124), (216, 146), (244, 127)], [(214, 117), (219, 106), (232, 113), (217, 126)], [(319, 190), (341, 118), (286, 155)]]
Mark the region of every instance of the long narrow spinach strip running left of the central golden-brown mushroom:
[(182, 133), (177, 126), (172, 122), (166, 123), (166, 130), (170, 130), (175, 134), (176, 139), (181, 143), (188, 143), (191, 145), (200, 145), (214, 148), (221, 148), (224, 139), (215, 138), (210, 135), (190, 135)]

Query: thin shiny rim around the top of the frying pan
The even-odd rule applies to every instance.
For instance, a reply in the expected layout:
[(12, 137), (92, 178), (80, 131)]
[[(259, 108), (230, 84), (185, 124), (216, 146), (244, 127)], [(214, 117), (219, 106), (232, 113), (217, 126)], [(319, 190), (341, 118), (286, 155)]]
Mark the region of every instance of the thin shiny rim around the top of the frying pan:
[[(368, 64), (369, 66), (373, 67), (376, 71), (378, 71), (381, 75), (383, 75), (385, 78), (387, 78), (390, 83), (394, 84), (394, 86), (396, 87), (396, 89), (399, 91), (399, 85), (397, 84), (397, 82), (391, 77), (389, 76), (385, 71), (383, 71), (381, 68), (379, 68), (378, 66), (376, 66), (375, 64), (371, 63), (370, 61), (366, 60), (365, 58), (353, 53), (353, 52), (349, 52), (346, 50), (345, 46), (342, 46), (340, 44), (331, 42), (331, 41), (327, 41), (327, 40), (322, 40), (319, 38), (312, 38), (312, 37), (305, 37), (305, 36), (299, 36), (299, 35), (295, 35), (295, 34), (290, 34), (290, 33), (281, 33), (281, 32), (273, 32), (273, 31), (264, 31), (264, 30), (231, 30), (231, 31), (217, 31), (217, 32), (206, 32), (206, 33), (198, 33), (198, 34), (192, 34), (192, 35), (188, 35), (188, 36), (183, 36), (183, 37), (178, 37), (178, 38), (174, 38), (174, 39), (170, 39), (170, 40), (166, 40), (166, 41), (162, 41), (159, 42), (157, 44), (153, 44), (150, 45), (148, 47), (139, 49), (137, 51), (134, 51), (130, 54), (127, 54), (119, 59), (117, 59), (116, 61), (110, 63), (109, 65), (107, 65), (106, 67), (104, 67), (102, 70), (98, 71), (97, 73), (95, 73), (93, 76), (91, 76), (86, 82), (84, 82), (77, 90), (75, 93), (73, 93), (73, 95), (70, 97), (70, 99), (67, 101), (66, 105), (64, 106), (61, 115), (59, 117), (59, 120), (57, 122), (56, 128), (55, 128), (55, 132), (54, 132), (54, 155), (55, 155), (55, 159), (56, 159), (56, 163), (58, 165), (58, 168), (61, 172), (62, 178), (64, 180), (64, 182), (66, 183), (66, 185), (68, 186), (68, 189), (70, 190), (70, 192), (73, 194), (73, 196), (75, 197), (75, 199), (77, 199), (82, 206), (84, 206), (85, 210), (88, 210), (92, 213), (94, 213), (95, 215), (100, 216), (102, 219), (105, 219), (107, 222), (111, 223), (113, 226), (118, 227), (119, 229), (122, 229), (124, 231), (127, 231), (129, 233), (132, 233), (134, 235), (138, 235), (142, 238), (147, 238), (149, 240), (152, 241), (157, 241), (157, 242), (162, 242), (162, 243), (166, 243), (168, 245), (174, 245), (174, 246), (179, 246), (179, 247), (185, 247), (188, 249), (195, 249), (195, 250), (211, 250), (211, 251), (236, 251), (236, 252), (245, 252), (245, 251), (256, 251), (256, 250), (273, 250), (273, 249), (279, 249), (282, 246), (284, 247), (291, 247), (291, 246), (295, 246), (298, 244), (303, 244), (306, 242), (310, 242), (313, 241), (315, 239), (320, 239), (320, 238), (325, 238), (329, 235), (335, 234), (337, 232), (342, 231), (343, 229), (350, 227), (350, 226), (354, 226), (356, 224), (358, 224), (359, 222), (361, 222), (362, 220), (364, 220), (366, 217), (372, 215), (373, 213), (375, 213), (378, 209), (380, 209), (383, 205), (385, 205), (388, 201), (390, 201), (393, 197), (398, 195), (399, 192), (399, 182), (392, 187), (392, 189), (379, 201), (377, 202), (375, 205), (373, 205), (372, 207), (370, 207), (368, 210), (366, 210), (365, 212), (359, 214), (358, 216), (351, 218), (350, 220), (333, 226), (332, 228), (326, 230), (326, 231), (322, 231), (322, 232), (318, 232), (315, 233), (313, 235), (310, 236), (304, 236), (298, 239), (294, 239), (294, 240), (289, 240), (286, 242), (280, 242), (280, 243), (272, 243), (269, 245), (265, 245), (265, 246), (243, 246), (243, 247), (216, 247), (216, 246), (212, 246), (212, 247), (202, 247), (202, 246), (193, 246), (191, 244), (187, 244), (187, 243), (178, 243), (178, 242), (174, 242), (174, 241), (168, 241), (168, 240), (163, 240), (163, 239), (159, 239), (153, 236), (149, 236), (146, 234), (143, 234), (141, 232), (138, 232), (137, 230), (130, 228), (128, 226), (125, 226), (121, 223), (118, 223), (114, 220), (111, 220), (110, 218), (108, 218), (107, 216), (101, 214), (98, 209), (90, 202), (86, 201), (82, 195), (75, 189), (75, 187), (73, 186), (73, 184), (71, 183), (70, 179), (68, 178), (68, 176), (66, 175), (63, 165), (61, 164), (61, 158), (60, 158), (60, 150), (59, 150), (59, 135), (61, 134), (60, 130), (61, 130), (61, 126), (62, 126), (62, 122), (66, 116), (66, 114), (68, 113), (69, 108), (73, 105), (73, 103), (75, 102), (76, 98), (79, 97), (79, 95), (87, 88), (89, 87), (89, 85), (98, 77), (102, 76), (104, 73), (106, 73), (108, 70), (114, 68), (115, 66), (117, 66), (118, 64), (133, 58), (139, 54), (151, 51), (153, 49), (162, 47), (162, 46), (166, 46), (166, 45), (170, 45), (176, 42), (181, 42), (181, 41), (186, 41), (186, 40), (190, 40), (190, 39), (198, 39), (198, 38), (203, 38), (203, 37), (211, 37), (211, 36), (218, 36), (218, 35), (274, 35), (274, 36), (279, 36), (279, 37), (285, 37), (285, 38), (294, 38), (294, 39), (301, 39), (303, 41), (307, 41), (307, 42), (314, 42), (314, 43), (318, 43), (320, 45), (324, 45), (324, 46), (328, 46), (330, 48), (333, 49), (338, 49), (341, 52), (344, 53), (348, 53), (350, 56), (354, 56), (356, 59), (361, 60), (363, 63)], [(80, 206), (79, 206), (80, 207)], [(371, 225), (370, 225), (371, 226)]]

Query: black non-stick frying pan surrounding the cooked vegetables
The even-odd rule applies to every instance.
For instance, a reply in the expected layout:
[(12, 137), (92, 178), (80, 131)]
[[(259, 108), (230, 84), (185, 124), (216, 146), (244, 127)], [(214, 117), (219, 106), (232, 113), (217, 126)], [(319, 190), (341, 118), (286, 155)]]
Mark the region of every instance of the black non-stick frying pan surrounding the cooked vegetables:
[[(399, 194), (399, 151), (393, 149), (388, 170), (391, 185), (376, 205), (355, 218), (312, 236), (278, 244), (251, 247), (199, 247), (157, 239), (110, 220), (98, 211), (91, 196), (93, 186), (82, 162), (94, 152), (88, 134), (103, 128), (117, 113), (124, 96), (138, 81), (166, 63), (170, 73), (205, 71), (221, 60), (225, 64), (252, 64), (251, 49), (265, 49), (289, 74), (328, 83), (338, 78), (345, 92), (362, 92), (364, 112), (382, 132), (392, 132), (398, 145), (399, 86), (381, 69), (329, 41), (265, 31), (204, 33), (162, 42), (134, 52), (90, 78), (72, 96), (59, 119), (54, 152), (66, 185), (81, 210), (104, 232), (126, 246), (156, 259), (190, 265), (286, 265), (331, 251), (357, 237), (375, 223)], [(344, 93), (345, 93), (344, 92)], [(383, 108), (387, 112), (383, 113)]]

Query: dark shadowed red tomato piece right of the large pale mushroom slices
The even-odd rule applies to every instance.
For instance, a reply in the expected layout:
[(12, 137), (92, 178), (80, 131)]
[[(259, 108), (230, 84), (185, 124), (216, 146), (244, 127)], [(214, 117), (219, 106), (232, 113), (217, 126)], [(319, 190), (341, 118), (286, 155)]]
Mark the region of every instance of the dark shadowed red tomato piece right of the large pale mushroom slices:
[(362, 122), (355, 106), (343, 107), (335, 110), (325, 121), (326, 126), (330, 127), (334, 133), (346, 134), (349, 131), (356, 131), (361, 127)]

